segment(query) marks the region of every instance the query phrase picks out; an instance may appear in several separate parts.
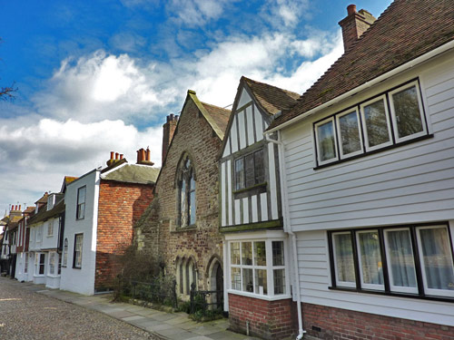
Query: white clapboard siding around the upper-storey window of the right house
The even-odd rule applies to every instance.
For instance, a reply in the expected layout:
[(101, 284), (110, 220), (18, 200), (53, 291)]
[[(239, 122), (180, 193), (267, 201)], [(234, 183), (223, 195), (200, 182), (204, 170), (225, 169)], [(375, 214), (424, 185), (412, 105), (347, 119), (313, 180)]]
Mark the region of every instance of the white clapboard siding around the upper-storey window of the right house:
[[(454, 62), (431, 63), (358, 96), (419, 77), (432, 137), (315, 169), (313, 121), (281, 131), (291, 228), (352, 228), (454, 219)], [(344, 104), (346, 105), (346, 104)]]

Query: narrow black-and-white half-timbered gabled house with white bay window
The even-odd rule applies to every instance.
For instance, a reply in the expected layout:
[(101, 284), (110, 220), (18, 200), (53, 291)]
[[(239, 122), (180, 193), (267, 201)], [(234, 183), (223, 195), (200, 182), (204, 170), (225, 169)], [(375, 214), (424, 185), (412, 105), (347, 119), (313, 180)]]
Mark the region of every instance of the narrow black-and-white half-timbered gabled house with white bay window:
[[(242, 77), (220, 158), (224, 308), (233, 329), (249, 329), (266, 338), (291, 334), (291, 289), (288, 240), (282, 231), (278, 147), (265, 140), (263, 131), (298, 97)], [(264, 301), (267, 307), (260, 308)], [(285, 321), (272, 315), (282, 301), (287, 304), (288, 315), (280, 313)], [(254, 316), (262, 313), (269, 317), (255, 322)]]

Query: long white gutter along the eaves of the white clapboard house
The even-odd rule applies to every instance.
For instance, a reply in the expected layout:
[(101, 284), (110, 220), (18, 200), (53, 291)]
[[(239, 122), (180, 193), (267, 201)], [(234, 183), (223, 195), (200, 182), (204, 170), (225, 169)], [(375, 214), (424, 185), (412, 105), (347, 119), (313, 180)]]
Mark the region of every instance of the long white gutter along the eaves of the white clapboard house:
[(314, 114), (316, 112), (319, 112), (323, 109), (326, 109), (327, 107), (330, 107), (338, 102), (341, 102), (343, 101), (344, 99), (354, 95), (354, 94), (357, 94), (361, 91), (364, 91), (366, 89), (369, 89), (370, 86), (373, 86), (373, 85), (376, 85), (378, 83), (381, 83), (383, 82), (384, 80), (396, 75), (396, 74), (399, 74), (399, 73), (402, 73), (404, 71), (407, 71), (409, 70), (410, 68), (418, 65), (419, 63), (424, 63), (424, 62), (427, 62), (430, 58), (433, 58), (441, 53), (445, 53), (447, 51), (449, 51), (450, 49), (454, 48), (454, 40), (450, 41), (449, 43), (447, 44), (443, 44), (441, 46), (439, 46), (438, 48), (434, 49), (434, 50), (431, 50), (430, 52), (428, 53), (425, 53), (425, 54), (422, 54), (420, 55), (418, 58), (416, 59), (413, 59), (411, 60), (410, 62), (408, 63), (404, 63), (403, 65), (400, 65), (399, 67), (396, 67), (395, 69), (392, 69), (391, 71), (387, 72), (387, 73), (383, 73), (381, 74), (380, 76), (372, 79), (371, 81), (369, 82), (366, 82), (366, 83), (363, 83), (362, 85), (358, 86), (358, 87), (355, 87), (354, 89), (350, 90), (349, 92), (345, 92), (345, 93), (342, 93), (341, 95), (331, 99), (331, 101), (329, 102), (324, 102), (322, 103), (321, 105), (307, 111), (307, 112), (304, 112), (302, 114), (300, 114), (299, 116), (296, 116), (294, 118), (292, 118), (290, 121), (285, 121), (283, 123), (281, 123), (281, 125), (278, 125), (272, 129), (270, 129), (269, 131), (266, 131), (265, 133), (266, 134), (269, 134), (271, 132), (274, 132), (274, 131), (279, 131), (297, 121), (301, 121), (303, 120), (304, 118), (310, 116), (311, 114)]

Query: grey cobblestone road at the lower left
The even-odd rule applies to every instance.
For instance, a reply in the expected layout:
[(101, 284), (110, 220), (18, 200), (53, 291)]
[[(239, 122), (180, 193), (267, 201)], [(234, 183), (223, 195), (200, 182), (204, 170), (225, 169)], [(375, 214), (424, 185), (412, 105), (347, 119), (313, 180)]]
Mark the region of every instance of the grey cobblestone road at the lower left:
[(101, 313), (36, 294), (0, 277), (0, 339), (154, 339)]

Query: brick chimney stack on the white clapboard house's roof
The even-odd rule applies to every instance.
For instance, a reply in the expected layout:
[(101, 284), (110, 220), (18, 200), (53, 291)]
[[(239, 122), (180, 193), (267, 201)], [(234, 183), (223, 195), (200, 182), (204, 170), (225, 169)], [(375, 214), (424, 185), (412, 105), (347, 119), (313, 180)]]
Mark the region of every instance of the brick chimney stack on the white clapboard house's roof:
[(377, 19), (368, 11), (360, 9), (360, 12), (356, 12), (356, 5), (348, 5), (347, 16), (339, 22), (342, 27), (344, 51), (347, 51), (375, 20)]

